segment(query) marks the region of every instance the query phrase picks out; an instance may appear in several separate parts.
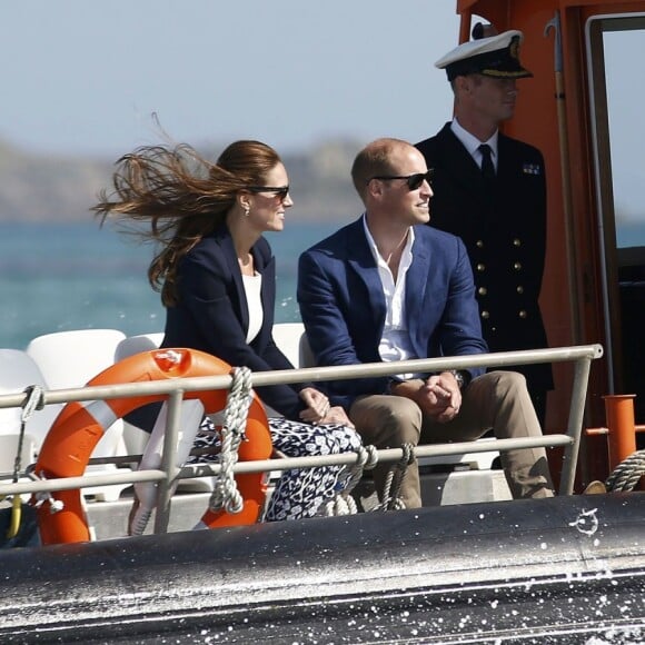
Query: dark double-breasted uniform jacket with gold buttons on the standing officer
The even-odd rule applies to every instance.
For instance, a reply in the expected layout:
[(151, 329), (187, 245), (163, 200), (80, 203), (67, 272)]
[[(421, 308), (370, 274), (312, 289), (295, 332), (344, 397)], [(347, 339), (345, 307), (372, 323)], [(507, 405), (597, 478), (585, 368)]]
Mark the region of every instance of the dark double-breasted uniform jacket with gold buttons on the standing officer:
[[(546, 248), (542, 153), (499, 132), (497, 176), (489, 188), (450, 123), (417, 148), (434, 168), (430, 226), (466, 245), (490, 351), (547, 347), (538, 306)], [(553, 388), (548, 364), (505, 369), (523, 373), (532, 391)]]

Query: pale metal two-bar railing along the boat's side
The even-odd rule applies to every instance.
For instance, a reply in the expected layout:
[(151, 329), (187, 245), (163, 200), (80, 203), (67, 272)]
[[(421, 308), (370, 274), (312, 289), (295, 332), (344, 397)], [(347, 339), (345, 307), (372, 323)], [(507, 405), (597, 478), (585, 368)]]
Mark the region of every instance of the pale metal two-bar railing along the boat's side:
[[(438, 373), (447, 369), (466, 369), (472, 367), (497, 367), (513, 365), (532, 365), (538, 363), (574, 363), (574, 379), (566, 433), (545, 434), (542, 437), (523, 439), (487, 439), (486, 441), (463, 441), (453, 444), (423, 445), (415, 448), (417, 457), (463, 455), (466, 453), (484, 453), (490, 450), (506, 452), (533, 447), (564, 447), (564, 463), (560, 476), (559, 494), (573, 494), (576, 464), (579, 453), (583, 417), (586, 401), (589, 369), (592, 360), (603, 356), (601, 345), (585, 345), (550, 349), (533, 349), (525, 351), (503, 351), (495, 354), (468, 355), (459, 357), (426, 358), (393, 363), (375, 363), (341, 367), (307, 367), (292, 370), (275, 370), (255, 373), (251, 375), (254, 387), (290, 384), (302, 381), (320, 381), (349, 379), (360, 377), (390, 376), (403, 373)], [(163, 458), (160, 469), (137, 472), (111, 472), (107, 474), (83, 475), (48, 480), (18, 482), (16, 484), (0, 483), (0, 496), (32, 494), (39, 492), (68, 490), (92, 486), (115, 484), (135, 484), (138, 482), (158, 482), (159, 498), (157, 507), (156, 530), (165, 530), (168, 525), (172, 484), (178, 478), (216, 476), (220, 473), (218, 464), (183, 466), (175, 465), (175, 450), (179, 430), (180, 407), (187, 393), (212, 389), (229, 389), (232, 377), (229, 375), (169, 378), (166, 380), (115, 384), (102, 386), (86, 386), (82, 388), (46, 390), (44, 405), (69, 401), (91, 401), (99, 399), (118, 399), (140, 397), (146, 395), (168, 396), (168, 424), (163, 443)], [(23, 407), (27, 403), (26, 393), (0, 395), (0, 409)], [(38, 414), (38, 413), (34, 413)], [(390, 448), (378, 450), (379, 462), (400, 459), (403, 450)], [(90, 459), (90, 463), (119, 463), (136, 460), (136, 456), (115, 459)], [(327, 455), (318, 457), (284, 457), (280, 459), (238, 463), (235, 473), (259, 473), (267, 470), (285, 470), (288, 468), (316, 467), (326, 465), (356, 464), (358, 456), (354, 453)], [(121, 469), (123, 470), (123, 469)]]

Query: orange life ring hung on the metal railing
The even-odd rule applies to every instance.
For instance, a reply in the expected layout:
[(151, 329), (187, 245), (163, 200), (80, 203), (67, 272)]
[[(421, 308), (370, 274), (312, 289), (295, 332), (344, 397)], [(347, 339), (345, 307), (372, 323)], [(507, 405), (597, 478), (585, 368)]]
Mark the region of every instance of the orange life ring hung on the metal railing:
[[(231, 367), (224, 360), (195, 349), (156, 349), (125, 358), (108, 367), (87, 385), (115, 385), (142, 383), (167, 378), (215, 376), (230, 374)], [(72, 401), (59, 414), (49, 430), (36, 463), (36, 474), (46, 479), (79, 477), (85, 473), (95, 446), (106, 428), (132, 410), (155, 401), (165, 400), (163, 395), (145, 395), (120, 399)], [(226, 407), (227, 390), (186, 393), (185, 398), (198, 398), (206, 413)], [(247, 441), (239, 447), (240, 460), (268, 459), (272, 446), (265, 408), (254, 394), (248, 411)], [(210, 528), (257, 522), (266, 497), (262, 473), (236, 476), (244, 498), (240, 513), (229, 515), (225, 510), (207, 510), (201, 518)], [(38, 508), (38, 523), (42, 544), (88, 542), (90, 530), (81, 504), (79, 489), (57, 490), (51, 497), (62, 503), (62, 509), (52, 513), (51, 503), (43, 502)]]

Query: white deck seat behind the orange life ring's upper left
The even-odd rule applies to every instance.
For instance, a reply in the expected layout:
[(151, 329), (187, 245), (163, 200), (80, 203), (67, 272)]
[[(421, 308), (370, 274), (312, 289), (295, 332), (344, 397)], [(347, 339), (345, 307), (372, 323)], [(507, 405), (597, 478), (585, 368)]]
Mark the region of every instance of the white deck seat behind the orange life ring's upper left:
[[(38, 336), (27, 346), (27, 354), (37, 363), (48, 389), (82, 387), (113, 364), (117, 345), (126, 338), (118, 329), (75, 329)], [(106, 429), (92, 457), (113, 457), (126, 453), (123, 423), (118, 419)], [(88, 472), (111, 470), (116, 466), (90, 465)], [(85, 488), (106, 502), (118, 499), (129, 485)]]

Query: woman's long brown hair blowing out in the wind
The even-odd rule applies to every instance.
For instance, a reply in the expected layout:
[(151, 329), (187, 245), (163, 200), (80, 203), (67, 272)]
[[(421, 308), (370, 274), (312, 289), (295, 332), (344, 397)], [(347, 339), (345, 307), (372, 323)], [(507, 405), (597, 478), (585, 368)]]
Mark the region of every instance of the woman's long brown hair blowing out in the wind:
[[(116, 217), (129, 232), (160, 246), (148, 280), (171, 307), (178, 299), (179, 260), (225, 220), (240, 190), (264, 185), (279, 162), (272, 148), (251, 140), (231, 143), (216, 163), (185, 143), (142, 147), (117, 161), (112, 192), (101, 191), (91, 210), (101, 226)], [(141, 222), (150, 229), (141, 230)]]

